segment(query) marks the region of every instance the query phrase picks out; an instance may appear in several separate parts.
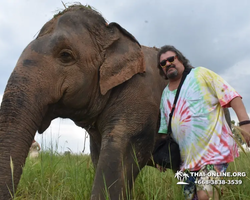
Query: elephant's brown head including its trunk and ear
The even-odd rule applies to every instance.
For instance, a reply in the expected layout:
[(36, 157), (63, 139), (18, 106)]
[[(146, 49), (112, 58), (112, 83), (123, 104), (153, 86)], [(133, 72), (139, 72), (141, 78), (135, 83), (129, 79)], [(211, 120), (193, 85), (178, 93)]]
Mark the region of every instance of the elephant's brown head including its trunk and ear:
[(3, 96), (0, 199), (12, 191), (10, 157), (16, 187), (37, 130), (56, 117), (92, 124), (112, 88), (144, 71), (136, 39), (89, 7), (71, 6), (47, 22), (22, 52)]

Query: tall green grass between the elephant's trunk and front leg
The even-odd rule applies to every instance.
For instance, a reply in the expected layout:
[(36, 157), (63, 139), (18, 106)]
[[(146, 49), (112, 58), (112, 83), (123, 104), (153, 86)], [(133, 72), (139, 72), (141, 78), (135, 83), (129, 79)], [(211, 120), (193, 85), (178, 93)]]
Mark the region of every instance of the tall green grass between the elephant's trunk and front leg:
[(15, 199), (89, 199), (93, 179), (89, 156), (42, 152), (27, 159)]

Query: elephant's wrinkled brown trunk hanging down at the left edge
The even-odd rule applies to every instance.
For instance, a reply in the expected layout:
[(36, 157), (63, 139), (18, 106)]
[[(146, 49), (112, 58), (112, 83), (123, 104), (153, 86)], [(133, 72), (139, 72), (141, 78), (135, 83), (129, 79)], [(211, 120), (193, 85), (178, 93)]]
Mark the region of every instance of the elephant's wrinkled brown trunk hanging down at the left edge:
[(10, 192), (14, 194), (13, 188), (17, 187), (32, 140), (46, 111), (42, 102), (35, 99), (34, 89), (28, 89), (32, 83), (34, 81), (25, 73), (15, 69), (3, 96), (0, 109), (0, 200), (10, 199)]

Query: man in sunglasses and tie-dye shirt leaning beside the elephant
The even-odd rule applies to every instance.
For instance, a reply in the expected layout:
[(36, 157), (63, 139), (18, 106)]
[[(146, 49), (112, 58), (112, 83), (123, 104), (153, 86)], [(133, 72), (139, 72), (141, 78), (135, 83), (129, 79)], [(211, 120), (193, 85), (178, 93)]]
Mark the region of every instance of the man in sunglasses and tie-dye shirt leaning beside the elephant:
[[(224, 110), (232, 107), (243, 136), (249, 144), (250, 120), (241, 96), (219, 75), (203, 68), (193, 68), (189, 60), (173, 46), (163, 46), (158, 52), (158, 67), (164, 78), (169, 80), (162, 93), (161, 124), (159, 134), (166, 137), (169, 113), (185, 68), (192, 68), (179, 94), (172, 116), (172, 137), (179, 144), (181, 171), (224, 172), (228, 163), (239, 156), (237, 145), (231, 137)], [(160, 170), (162, 169), (158, 166)], [(214, 199), (219, 194), (212, 185), (195, 185), (195, 180), (217, 179), (218, 177), (190, 177), (184, 186), (186, 199)], [(203, 182), (204, 183), (204, 182)], [(218, 185), (217, 185), (218, 186)]]

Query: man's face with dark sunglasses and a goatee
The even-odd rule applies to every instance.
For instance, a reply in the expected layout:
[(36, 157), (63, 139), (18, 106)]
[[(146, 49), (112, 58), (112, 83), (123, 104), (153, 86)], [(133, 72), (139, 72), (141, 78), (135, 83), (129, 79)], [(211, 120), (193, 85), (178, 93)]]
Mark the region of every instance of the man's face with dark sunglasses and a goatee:
[(163, 62), (164, 65), (161, 67), (168, 79), (173, 80), (178, 77), (181, 77), (180, 75), (184, 71), (184, 65), (178, 60), (174, 52), (167, 51), (166, 53), (161, 54), (160, 63), (162, 61), (166, 61)]

